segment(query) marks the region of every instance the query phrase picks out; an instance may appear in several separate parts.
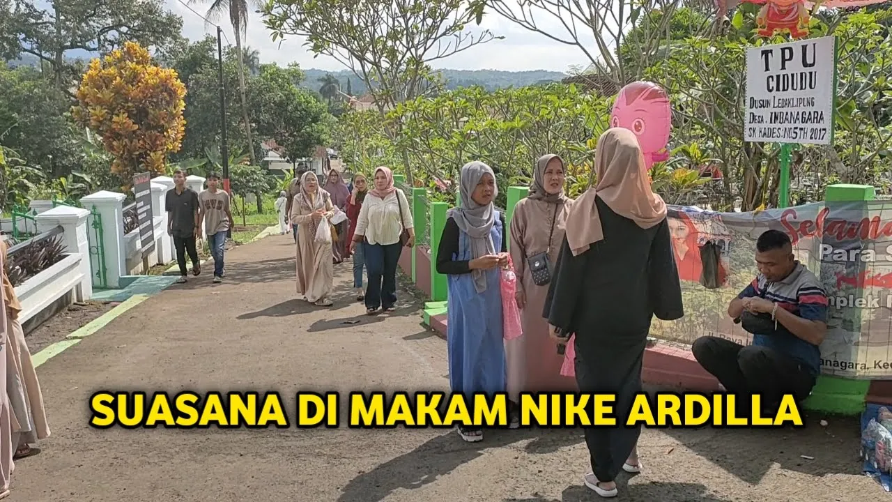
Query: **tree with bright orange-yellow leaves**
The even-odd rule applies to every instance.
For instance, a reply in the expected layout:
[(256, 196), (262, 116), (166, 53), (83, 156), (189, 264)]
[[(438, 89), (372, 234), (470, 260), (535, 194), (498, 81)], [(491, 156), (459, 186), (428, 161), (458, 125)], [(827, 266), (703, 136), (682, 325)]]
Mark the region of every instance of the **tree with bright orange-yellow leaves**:
[(137, 172), (164, 173), (186, 130), (186, 86), (176, 71), (154, 65), (144, 47), (128, 42), (90, 63), (77, 96), (75, 121), (102, 136), (114, 156), (111, 172), (126, 186)]

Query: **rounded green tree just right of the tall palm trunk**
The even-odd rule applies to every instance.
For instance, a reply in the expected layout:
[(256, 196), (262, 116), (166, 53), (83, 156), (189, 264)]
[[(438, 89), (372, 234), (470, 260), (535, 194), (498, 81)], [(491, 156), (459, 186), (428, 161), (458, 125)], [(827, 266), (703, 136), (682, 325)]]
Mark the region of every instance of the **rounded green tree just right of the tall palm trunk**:
[(314, 146), (326, 145), (334, 117), (310, 91), (300, 88), (303, 72), (296, 64), (280, 68), (260, 66), (260, 78), (253, 79), (252, 112), (257, 133), (273, 139), (286, 158), (310, 155)]

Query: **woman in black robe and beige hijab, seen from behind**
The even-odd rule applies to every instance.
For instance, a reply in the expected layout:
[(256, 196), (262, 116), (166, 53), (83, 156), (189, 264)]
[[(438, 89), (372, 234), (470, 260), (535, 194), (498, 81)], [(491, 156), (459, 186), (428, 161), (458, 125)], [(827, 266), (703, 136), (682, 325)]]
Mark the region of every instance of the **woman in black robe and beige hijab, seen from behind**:
[[(617, 423), (641, 391), (650, 321), (680, 319), (681, 287), (663, 199), (650, 189), (644, 156), (631, 130), (598, 139), (597, 184), (566, 219), (543, 314), (558, 343), (575, 333), (576, 382), (582, 393), (615, 393)], [(615, 497), (615, 477), (640, 473), (638, 427), (587, 428), (592, 473), (585, 485)]]

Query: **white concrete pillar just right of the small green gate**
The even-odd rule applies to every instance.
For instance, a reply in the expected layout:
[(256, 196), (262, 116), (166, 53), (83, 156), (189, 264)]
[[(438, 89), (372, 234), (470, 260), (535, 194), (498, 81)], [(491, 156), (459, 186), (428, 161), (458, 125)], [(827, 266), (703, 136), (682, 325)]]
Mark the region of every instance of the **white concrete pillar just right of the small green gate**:
[[(120, 277), (127, 275), (127, 250), (124, 248), (124, 194), (100, 190), (80, 199), (87, 210), (95, 207), (103, 221), (103, 253), (108, 287), (120, 287)], [(99, 259), (98, 256), (96, 259)]]

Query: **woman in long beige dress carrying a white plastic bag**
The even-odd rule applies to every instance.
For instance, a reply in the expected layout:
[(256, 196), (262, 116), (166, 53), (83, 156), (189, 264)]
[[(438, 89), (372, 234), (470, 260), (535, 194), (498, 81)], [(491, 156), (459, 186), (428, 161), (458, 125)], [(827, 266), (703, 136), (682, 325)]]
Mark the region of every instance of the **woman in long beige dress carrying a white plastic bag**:
[(316, 173), (305, 172), (301, 176), (301, 191), (294, 196), (291, 205), (291, 222), (298, 225), (300, 232), (297, 239), (297, 294), (318, 306), (332, 305), (329, 295), (334, 264), (331, 240), (317, 242), (316, 232), (319, 225), (325, 225), (326, 231), (330, 232), (328, 219), (334, 214), (331, 196), (319, 188)]

